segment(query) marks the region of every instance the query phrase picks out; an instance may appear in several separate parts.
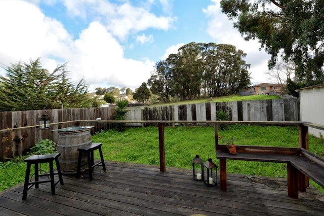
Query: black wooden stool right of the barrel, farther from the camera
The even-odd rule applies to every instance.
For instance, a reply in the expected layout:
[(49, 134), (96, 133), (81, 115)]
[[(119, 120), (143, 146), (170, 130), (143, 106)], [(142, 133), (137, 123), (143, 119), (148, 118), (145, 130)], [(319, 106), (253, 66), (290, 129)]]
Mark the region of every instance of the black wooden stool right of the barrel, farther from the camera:
[[(84, 148), (79, 148), (77, 149), (77, 151), (79, 151), (79, 158), (78, 158), (78, 161), (77, 161), (77, 171), (76, 171), (76, 178), (79, 178), (80, 177), (80, 168), (81, 166), (85, 165), (85, 164), (81, 164), (81, 160), (82, 160), (82, 153), (87, 153), (87, 157), (88, 157), (88, 173), (85, 173), (85, 172), (82, 172), (83, 174), (89, 174), (89, 179), (90, 181), (92, 181), (92, 171), (93, 171), (93, 168), (95, 166), (102, 166), (103, 168), (103, 171), (106, 171), (106, 167), (105, 167), (105, 162), (103, 160), (103, 156), (102, 156), (102, 151), (101, 151), (101, 146), (102, 146), (102, 143), (98, 143), (98, 142), (95, 142), (95, 143), (91, 143), (91, 146), (86, 146)], [(94, 163), (94, 158), (93, 158), (93, 152), (95, 150), (99, 149), (99, 153), (100, 153), (100, 158), (101, 158), (101, 161), (98, 162), (98, 163)]]

